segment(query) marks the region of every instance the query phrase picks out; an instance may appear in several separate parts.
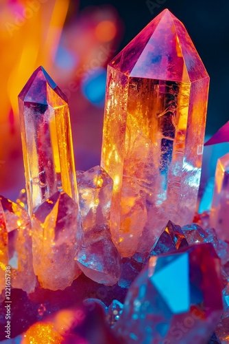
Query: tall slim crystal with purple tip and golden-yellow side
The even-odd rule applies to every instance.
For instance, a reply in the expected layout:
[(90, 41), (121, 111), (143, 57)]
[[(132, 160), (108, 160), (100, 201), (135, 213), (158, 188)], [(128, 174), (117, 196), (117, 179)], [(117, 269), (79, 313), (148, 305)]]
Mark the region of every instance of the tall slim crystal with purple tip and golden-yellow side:
[(43, 67), (19, 94), (19, 113), (29, 215), (58, 189), (77, 200), (68, 100)]

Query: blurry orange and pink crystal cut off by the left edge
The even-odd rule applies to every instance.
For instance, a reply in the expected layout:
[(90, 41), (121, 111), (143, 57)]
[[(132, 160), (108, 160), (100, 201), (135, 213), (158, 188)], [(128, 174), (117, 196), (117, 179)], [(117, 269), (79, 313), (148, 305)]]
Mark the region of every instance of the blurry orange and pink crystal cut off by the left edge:
[[(3, 270), (5, 275), (5, 266), (10, 266), (12, 288), (20, 288), (27, 293), (34, 292), (36, 276), (32, 264), (32, 230), (29, 215), (19, 204), (0, 196), (0, 218), (0, 274)], [(3, 281), (5, 283), (5, 277)]]

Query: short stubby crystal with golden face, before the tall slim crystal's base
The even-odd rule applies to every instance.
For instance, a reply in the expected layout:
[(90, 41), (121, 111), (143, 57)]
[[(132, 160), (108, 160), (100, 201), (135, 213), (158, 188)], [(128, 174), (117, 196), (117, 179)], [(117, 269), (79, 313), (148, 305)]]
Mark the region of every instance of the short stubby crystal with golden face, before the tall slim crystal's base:
[(54, 193), (34, 212), (34, 272), (43, 288), (67, 288), (80, 275), (74, 259), (77, 215), (77, 203), (64, 191)]

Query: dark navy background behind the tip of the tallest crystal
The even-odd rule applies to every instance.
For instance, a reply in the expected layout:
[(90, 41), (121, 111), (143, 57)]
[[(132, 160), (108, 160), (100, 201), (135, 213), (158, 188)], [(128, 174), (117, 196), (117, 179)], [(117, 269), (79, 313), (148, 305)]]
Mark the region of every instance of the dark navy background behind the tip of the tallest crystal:
[[(158, 0), (160, 8), (147, 6), (145, 0), (82, 0), (86, 6), (109, 3), (117, 8), (125, 24), (120, 49), (123, 49), (162, 10), (168, 8), (184, 23), (210, 76), (206, 134), (213, 135), (228, 118), (229, 1)], [(149, 1), (150, 3), (150, 1)], [(151, 1), (157, 3), (157, 1)]]

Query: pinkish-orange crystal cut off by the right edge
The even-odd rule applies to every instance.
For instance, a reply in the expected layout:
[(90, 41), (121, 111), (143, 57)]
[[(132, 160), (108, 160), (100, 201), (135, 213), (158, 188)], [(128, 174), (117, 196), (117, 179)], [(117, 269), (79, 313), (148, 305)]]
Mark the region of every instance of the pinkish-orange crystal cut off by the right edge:
[(229, 153), (217, 161), (213, 202), (210, 209), (210, 226), (222, 240), (229, 240)]

